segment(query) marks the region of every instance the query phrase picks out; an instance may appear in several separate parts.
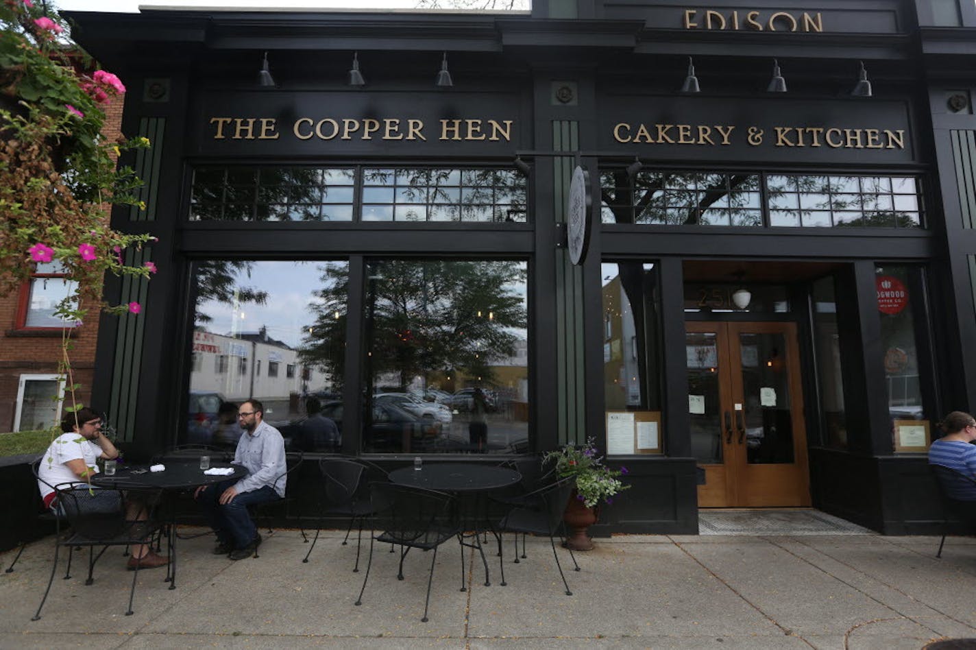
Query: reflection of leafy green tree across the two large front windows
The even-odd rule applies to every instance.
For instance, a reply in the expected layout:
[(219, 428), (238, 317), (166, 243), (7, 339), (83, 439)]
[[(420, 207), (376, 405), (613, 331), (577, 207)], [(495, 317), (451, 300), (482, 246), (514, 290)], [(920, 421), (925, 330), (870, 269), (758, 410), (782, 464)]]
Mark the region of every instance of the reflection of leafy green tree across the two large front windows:
[[(488, 386), (494, 362), (525, 339), (524, 263), (384, 260), (368, 265), (367, 278), (371, 384), (386, 375), (405, 391), (416, 377), (460, 373)], [(303, 361), (334, 377), (343, 375), (345, 350), (327, 342), (345, 338), (347, 284), (345, 267), (325, 266), (302, 342)]]

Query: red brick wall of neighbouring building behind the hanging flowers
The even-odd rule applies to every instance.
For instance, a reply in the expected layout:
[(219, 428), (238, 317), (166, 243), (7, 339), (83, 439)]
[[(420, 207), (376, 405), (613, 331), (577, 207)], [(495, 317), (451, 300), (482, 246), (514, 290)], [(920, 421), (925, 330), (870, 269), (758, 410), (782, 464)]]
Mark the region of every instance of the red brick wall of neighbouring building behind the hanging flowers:
[[(119, 99), (105, 108), (105, 128), (103, 133), (109, 142), (122, 135), (123, 102)], [(108, 219), (108, 209), (105, 209)], [(58, 359), (61, 356), (61, 331), (34, 333), (17, 330), (20, 291), (0, 296), (0, 432), (14, 428), (17, 412), (17, 392), (20, 375), (44, 375), (58, 372)], [(95, 367), (95, 347), (99, 336), (99, 314), (95, 309), (89, 311), (87, 320), (72, 332), (70, 350), (71, 367), (75, 370), (74, 381), (82, 385), (78, 393), (79, 401), (89, 404), (92, 374)], [(103, 404), (95, 404), (103, 410)]]

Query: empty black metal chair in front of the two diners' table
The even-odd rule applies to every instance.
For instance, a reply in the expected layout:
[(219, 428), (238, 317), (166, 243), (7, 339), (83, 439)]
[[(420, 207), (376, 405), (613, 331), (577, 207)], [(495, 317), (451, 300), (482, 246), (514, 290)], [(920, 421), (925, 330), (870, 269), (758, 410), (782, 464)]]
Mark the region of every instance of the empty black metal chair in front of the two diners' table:
[[(51, 591), (55, 572), (58, 569), (58, 554), (61, 546), (72, 549), (75, 547), (89, 548), (88, 579), (85, 584), (91, 585), (95, 563), (99, 561), (102, 553), (108, 547), (129, 547), (144, 544), (162, 527), (162, 523), (155, 519), (152, 511), (152, 504), (159, 502), (159, 491), (141, 491), (136, 497), (135, 491), (129, 490), (128, 503), (138, 504), (140, 509), (137, 512), (127, 514), (127, 495), (121, 490), (92, 489), (83, 485), (72, 485), (74, 489), (62, 489), (63, 486), (56, 486), (58, 507), (61, 509), (71, 532), (62, 538), (59, 525), (55, 537), (55, 559), (51, 566), (51, 577), (48, 579), (48, 587), (44, 590), (41, 604), (37, 606), (37, 612), (31, 621), (37, 621), (41, 618), (41, 609), (48, 599), (48, 593)], [(134, 516), (129, 518), (130, 515)], [(58, 521), (60, 523), (61, 519), (59, 518)], [(96, 547), (102, 547), (98, 555), (95, 554)], [(172, 557), (168, 559), (172, 559)], [(131, 616), (133, 613), (132, 603), (136, 594), (136, 580), (139, 577), (139, 569), (140, 565), (137, 563), (133, 572), (132, 588), (129, 591), (129, 609), (126, 611), (126, 616)]]

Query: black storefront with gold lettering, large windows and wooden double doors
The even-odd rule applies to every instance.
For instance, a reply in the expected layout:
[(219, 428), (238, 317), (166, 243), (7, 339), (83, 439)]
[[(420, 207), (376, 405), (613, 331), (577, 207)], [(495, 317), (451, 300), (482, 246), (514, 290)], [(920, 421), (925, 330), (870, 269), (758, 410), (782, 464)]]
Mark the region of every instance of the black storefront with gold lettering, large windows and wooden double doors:
[[(976, 405), (976, 6), (73, 14), (129, 87), (159, 237), (109, 285), (129, 444), (497, 463), (593, 437), (609, 532), (698, 508), (941, 521)], [(316, 435), (323, 414), (341, 439)], [(479, 455), (479, 456), (475, 456)]]

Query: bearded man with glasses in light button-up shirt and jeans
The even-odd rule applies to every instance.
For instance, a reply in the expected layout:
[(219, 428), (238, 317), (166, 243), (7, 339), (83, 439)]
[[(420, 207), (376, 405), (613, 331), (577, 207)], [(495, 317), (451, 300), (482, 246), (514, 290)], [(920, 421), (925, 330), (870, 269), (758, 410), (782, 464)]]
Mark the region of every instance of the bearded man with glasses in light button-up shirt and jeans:
[(247, 467), (247, 476), (201, 486), (195, 495), (217, 534), (214, 554), (232, 560), (250, 557), (261, 544), (248, 506), (285, 496), (285, 440), (264, 422), (264, 406), (257, 399), (247, 400), (237, 411), (237, 422), (244, 433), (237, 441), (234, 463)]

